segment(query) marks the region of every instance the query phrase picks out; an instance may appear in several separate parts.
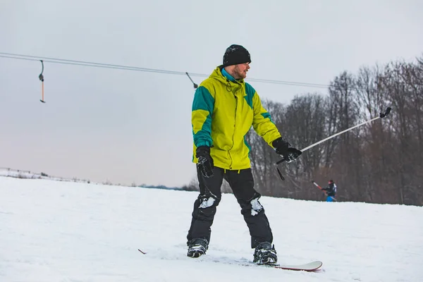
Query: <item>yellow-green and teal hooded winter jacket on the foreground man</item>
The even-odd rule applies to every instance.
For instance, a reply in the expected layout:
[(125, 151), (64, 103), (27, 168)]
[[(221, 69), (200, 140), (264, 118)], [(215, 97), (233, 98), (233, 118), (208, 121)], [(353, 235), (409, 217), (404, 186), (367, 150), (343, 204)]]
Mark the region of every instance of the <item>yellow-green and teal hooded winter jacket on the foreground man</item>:
[(270, 146), (281, 137), (255, 89), (244, 80), (234, 80), (217, 67), (195, 91), (192, 102), (192, 135), (195, 150), (209, 146), (214, 166), (238, 170), (250, 168), (250, 145), (245, 135), (251, 125)]

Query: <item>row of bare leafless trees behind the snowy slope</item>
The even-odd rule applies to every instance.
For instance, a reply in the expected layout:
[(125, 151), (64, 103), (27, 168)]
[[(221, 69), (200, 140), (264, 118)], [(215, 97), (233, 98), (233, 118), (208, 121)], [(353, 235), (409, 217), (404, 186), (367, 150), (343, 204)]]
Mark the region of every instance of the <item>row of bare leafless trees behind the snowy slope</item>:
[[(335, 133), (379, 118), (312, 147), (296, 161), (281, 158), (254, 130), (247, 135), (255, 188), (271, 197), (323, 200), (329, 179), (338, 201), (423, 205), (423, 56), (344, 71), (328, 92), (297, 95), (290, 104), (262, 101), (281, 135), (302, 149)], [(192, 183), (190, 184), (192, 185)], [(230, 192), (227, 186), (223, 191)]]

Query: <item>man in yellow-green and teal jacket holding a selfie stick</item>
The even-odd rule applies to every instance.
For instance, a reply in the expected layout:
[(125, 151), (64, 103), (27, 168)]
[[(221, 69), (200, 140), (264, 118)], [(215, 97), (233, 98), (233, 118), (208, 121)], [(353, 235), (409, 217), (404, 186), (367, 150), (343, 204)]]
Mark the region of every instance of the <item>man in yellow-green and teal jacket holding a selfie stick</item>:
[(301, 151), (281, 137), (257, 92), (244, 81), (250, 63), (247, 49), (231, 45), (223, 55), (223, 64), (216, 67), (195, 91), (192, 102), (193, 162), (197, 164), (200, 195), (194, 203), (187, 235), (188, 257), (200, 257), (207, 252), (225, 179), (250, 230), (254, 262), (277, 262), (269, 220), (259, 202), (261, 195), (254, 188), (251, 148), (245, 136), (252, 126), (288, 161), (298, 158)]

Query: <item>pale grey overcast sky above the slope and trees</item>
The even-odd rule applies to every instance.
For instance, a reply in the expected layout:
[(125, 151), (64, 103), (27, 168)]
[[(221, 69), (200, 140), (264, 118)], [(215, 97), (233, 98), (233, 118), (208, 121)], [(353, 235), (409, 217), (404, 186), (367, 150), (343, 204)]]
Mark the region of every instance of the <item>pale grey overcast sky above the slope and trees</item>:
[[(209, 75), (242, 44), (247, 81), (326, 85), (421, 56), (422, 15), (418, 0), (0, 0), (0, 52)], [(195, 177), (188, 77), (45, 63), (42, 104), (40, 72), (39, 61), (0, 57), (0, 167), (123, 184)], [(326, 94), (250, 83), (285, 104)]]

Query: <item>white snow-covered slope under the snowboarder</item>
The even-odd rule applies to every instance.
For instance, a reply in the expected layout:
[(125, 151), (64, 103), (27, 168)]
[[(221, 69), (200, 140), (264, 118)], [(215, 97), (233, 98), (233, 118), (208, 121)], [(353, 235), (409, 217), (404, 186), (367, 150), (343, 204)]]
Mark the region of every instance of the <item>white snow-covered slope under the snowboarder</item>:
[(0, 193), (2, 282), (423, 281), (423, 207), (262, 197), (279, 262), (324, 262), (308, 273), (238, 265), (253, 251), (233, 195), (191, 259), (197, 192), (0, 177)]

